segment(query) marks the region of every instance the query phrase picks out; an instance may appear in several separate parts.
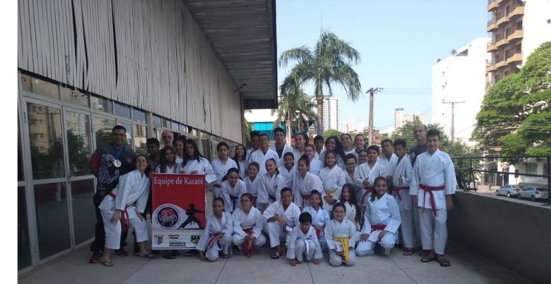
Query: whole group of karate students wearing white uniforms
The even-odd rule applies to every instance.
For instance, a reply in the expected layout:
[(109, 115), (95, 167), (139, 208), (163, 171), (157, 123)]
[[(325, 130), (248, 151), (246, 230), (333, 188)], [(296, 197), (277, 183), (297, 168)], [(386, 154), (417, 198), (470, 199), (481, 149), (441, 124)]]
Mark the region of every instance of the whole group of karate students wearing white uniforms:
[[(193, 140), (183, 141), (183, 151), (165, 146), (156, 172), (206, 175), (214, 199), (196, 248), (200, 259), (227, 259), (232, 252), (251, 257), (269, 241), (271, 258), (283, 255), (284, 242), (293, 266), (318, 264), (324, 252), (331, 265), (354, 265), (356, 256), (388, 255), (400, 243), (404, 255), (421, 245), (422, 262), (449, 266), (444, 249), (455, 170), (449, 155), (439, 151), (439, 131), (427, 131), (423, 124), (415, 129), (413, 159), (401, 139), (382, 141), (380, 156), (378, 146), (365, 149), (361, 134), (354, 142), (347, 133), (331, 136), (324, 145), (316, 137), (312, 145), (299, 133), (293, 148), (284, 144), (284, 130), (278, 128), (274, 145), (269, 146), (268, 135), (253, 132), (252, 148), (239, 145), (233, 158), (220, 142), (211, 163)], [(138, 243), (144, 244), (141, 255), (149, 257), (141, 217), (149, 183), (139, 168), (136, 164), (136, 171), (121, 177), (112, 198), (102, 203), (105, 246), (117, 249), (120, 226), (113, 225), (118, 215), (112, 212), (125, 210)]]

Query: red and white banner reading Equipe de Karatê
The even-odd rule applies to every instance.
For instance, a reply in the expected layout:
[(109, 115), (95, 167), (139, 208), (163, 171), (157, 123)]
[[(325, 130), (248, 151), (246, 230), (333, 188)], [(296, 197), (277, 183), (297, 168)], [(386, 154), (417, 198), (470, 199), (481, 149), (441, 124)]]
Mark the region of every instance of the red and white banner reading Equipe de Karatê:
[(152, 248), (195, 248), (207, 223), (205, 175), (156, 173), (152, 178)]

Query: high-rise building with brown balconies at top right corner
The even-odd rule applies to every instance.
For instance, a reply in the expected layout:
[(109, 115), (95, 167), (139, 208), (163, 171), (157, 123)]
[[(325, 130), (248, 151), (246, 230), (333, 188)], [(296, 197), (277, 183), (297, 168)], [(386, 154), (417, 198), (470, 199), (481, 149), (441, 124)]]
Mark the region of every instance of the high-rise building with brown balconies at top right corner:
[(488, 27), (492, 34), (487, 50), (486, 90), (501, 78), (519, 72), (526, 58), (551, 41), (550, 0), (489, 0)]

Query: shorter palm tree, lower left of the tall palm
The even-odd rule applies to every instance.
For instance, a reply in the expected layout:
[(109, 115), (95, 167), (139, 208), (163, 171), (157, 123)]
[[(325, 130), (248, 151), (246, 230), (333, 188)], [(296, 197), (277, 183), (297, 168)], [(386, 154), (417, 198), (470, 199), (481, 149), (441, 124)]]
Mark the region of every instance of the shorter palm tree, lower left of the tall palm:
[(302, 130), (301, 125), (306, 125), (308, 120), (315, 120), (316, 115), (312, 110), (315, 106), (310, 96), (304, 93), (303, 89), (293, 87), (287, 93), (282, 94), (282, 101), (278, 109), (273, 109), (271, 113), (277, 112), (277, 119), (274, 124), (281, 124), (285, 121), (287, 129), (287, 144), (291, 144), (291, 132), (293, 129), (291, 124), (295, 121), (295, 129)]

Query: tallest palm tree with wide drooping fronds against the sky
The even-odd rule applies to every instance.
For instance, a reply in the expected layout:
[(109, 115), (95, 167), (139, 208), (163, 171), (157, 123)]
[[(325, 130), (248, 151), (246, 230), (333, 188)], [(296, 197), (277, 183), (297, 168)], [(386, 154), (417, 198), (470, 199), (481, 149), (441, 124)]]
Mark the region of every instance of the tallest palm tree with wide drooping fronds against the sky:
[(360, 80), (352, 63), (360, 61), (360, 53), (349, 43), (339, 39), (332, 32), (324, 31), (314, 50), (309, 47), (295, 47), (283, 52), (280, 56), (280, 67), (286, 67), (289, 61), (297, 61), (289, 75), (283, 80), (280, 87), (282, 94), (294, 88), (295, 82), (299, 85), (313, 81), (315, 99), (318, 102), (318, 134), (323, 133), (323, 89), (329, 89), (333, 95), (332, 86), (341, 85), (349, 99), (355, 102), (362, 95)]

